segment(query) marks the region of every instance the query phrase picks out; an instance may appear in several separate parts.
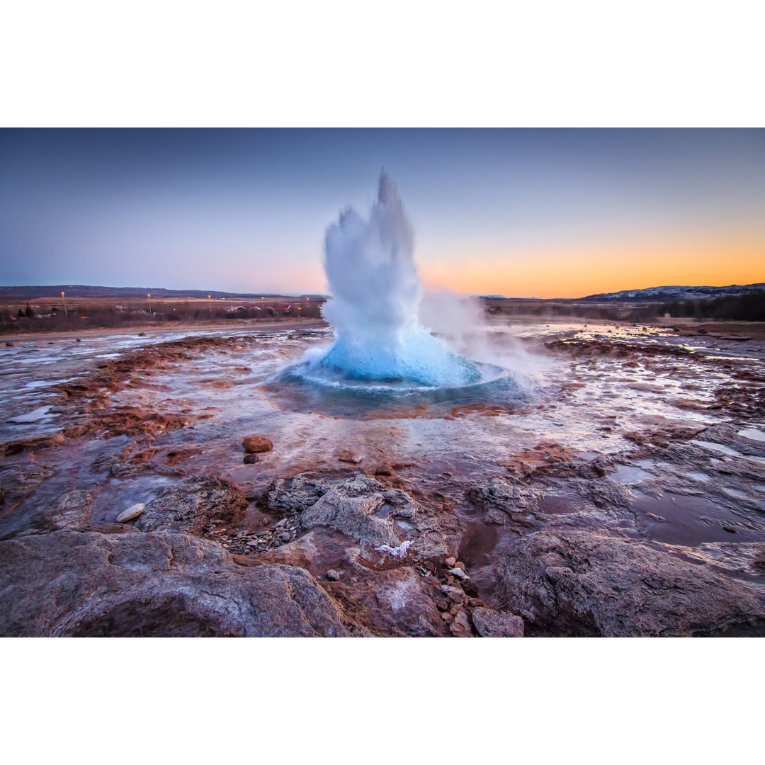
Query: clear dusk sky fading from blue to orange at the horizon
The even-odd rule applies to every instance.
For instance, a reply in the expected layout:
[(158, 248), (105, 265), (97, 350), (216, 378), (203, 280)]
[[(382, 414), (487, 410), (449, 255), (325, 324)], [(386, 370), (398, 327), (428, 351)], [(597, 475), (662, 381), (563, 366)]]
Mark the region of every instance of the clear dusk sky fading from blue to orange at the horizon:
[(765, 281), (765, 130), (3, 129), (0, 285), (325, 292), (382, 167), (428, 288)]

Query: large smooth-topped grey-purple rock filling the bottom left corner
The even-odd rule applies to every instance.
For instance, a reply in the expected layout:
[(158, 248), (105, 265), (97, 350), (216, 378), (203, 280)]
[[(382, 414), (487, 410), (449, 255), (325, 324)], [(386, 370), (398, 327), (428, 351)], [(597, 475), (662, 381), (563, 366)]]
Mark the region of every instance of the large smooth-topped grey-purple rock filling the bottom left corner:
[(0, 542), (2, 636), (347, 636), (301, 568), (236, 565), (186, 534), (59, 531)]

